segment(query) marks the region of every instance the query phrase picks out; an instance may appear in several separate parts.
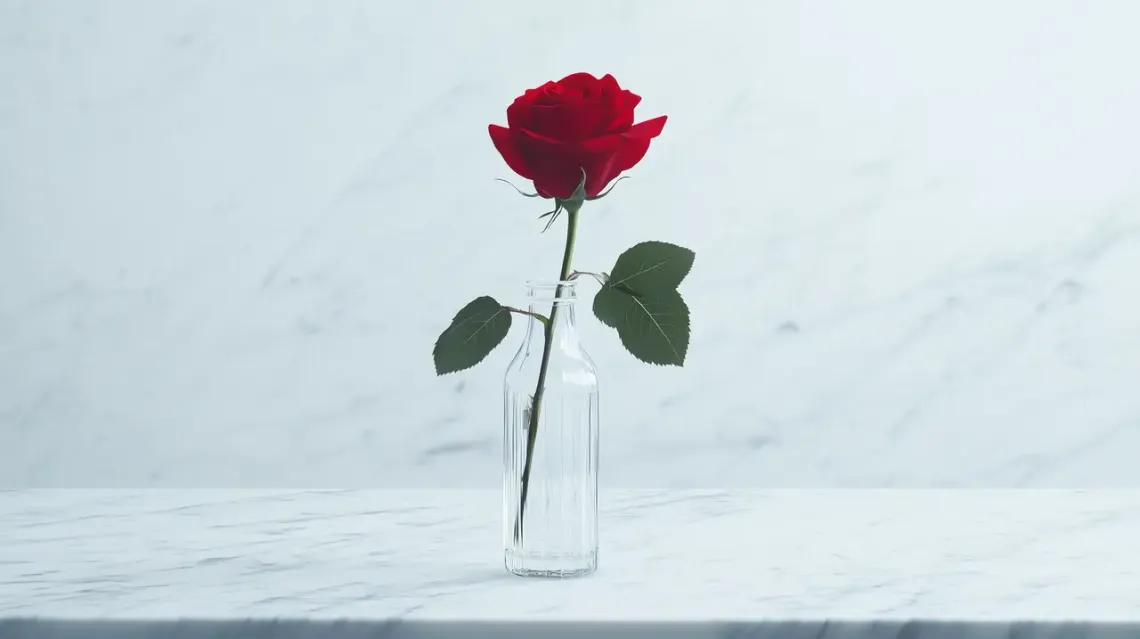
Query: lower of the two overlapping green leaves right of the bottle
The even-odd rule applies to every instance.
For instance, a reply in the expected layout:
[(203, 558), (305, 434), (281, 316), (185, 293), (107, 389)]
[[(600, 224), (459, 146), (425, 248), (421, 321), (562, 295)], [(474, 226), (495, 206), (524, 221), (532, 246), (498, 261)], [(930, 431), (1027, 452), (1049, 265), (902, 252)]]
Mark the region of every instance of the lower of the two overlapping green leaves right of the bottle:
[(684, 366), (689, 351), (689, 306), (674, 289), (635, 297), (612, 287), (594, 296), (594, 314), (618, 330), (621, 345), (646, 363)]

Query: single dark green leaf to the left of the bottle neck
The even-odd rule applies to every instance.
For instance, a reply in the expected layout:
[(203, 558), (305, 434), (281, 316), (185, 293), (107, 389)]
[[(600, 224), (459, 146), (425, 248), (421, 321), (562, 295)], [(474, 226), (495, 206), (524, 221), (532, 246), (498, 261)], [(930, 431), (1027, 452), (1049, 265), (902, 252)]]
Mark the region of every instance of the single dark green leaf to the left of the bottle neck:
[(451, 326), (435, 341), (435, 375), (464, 370), (483, 361), (511, 329), (511, 312), (487, 295), (455, 313)]

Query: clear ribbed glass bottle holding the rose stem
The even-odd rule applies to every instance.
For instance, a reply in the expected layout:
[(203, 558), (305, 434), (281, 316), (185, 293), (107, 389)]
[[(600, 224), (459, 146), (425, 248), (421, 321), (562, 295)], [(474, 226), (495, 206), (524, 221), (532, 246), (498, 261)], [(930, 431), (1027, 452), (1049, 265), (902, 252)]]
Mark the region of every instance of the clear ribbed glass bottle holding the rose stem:
[[(542, 320), (529, 319), (504, 384), (504, 560), (508, 571), (523, 576), (584, 576), (597, 568), (597, 375), (578, 342), (576, 285), (527, 282), (528, 310), (549, 318), (551, 336)], [(538, 419), (522, 508), (536, 395)]]

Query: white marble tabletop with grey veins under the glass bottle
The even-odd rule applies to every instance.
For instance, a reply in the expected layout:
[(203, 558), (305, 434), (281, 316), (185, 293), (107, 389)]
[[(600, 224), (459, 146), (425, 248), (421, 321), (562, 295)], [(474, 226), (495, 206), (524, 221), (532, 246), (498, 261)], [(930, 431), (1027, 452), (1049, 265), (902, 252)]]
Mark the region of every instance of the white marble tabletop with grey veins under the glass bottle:
[(496, 491), (5, 491), (0, 637), (1140, 636), (1140, 491), (601, 499), (559, 581)]

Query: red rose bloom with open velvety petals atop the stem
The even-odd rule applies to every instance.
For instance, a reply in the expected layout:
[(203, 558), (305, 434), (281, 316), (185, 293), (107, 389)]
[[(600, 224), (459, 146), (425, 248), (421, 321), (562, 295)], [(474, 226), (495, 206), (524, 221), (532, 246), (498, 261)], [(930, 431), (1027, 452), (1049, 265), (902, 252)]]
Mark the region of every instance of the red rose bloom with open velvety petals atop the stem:
[(583, 170), (586, 197), (594, 197), (641, 162), (665, 128), (665, 115), (634, 124), (640, 101), (612, 75), (575, 73), (519, 96), (506, 109), (507, 126), (489, 126), (491, 141), (543, 197), (569, 198)]

